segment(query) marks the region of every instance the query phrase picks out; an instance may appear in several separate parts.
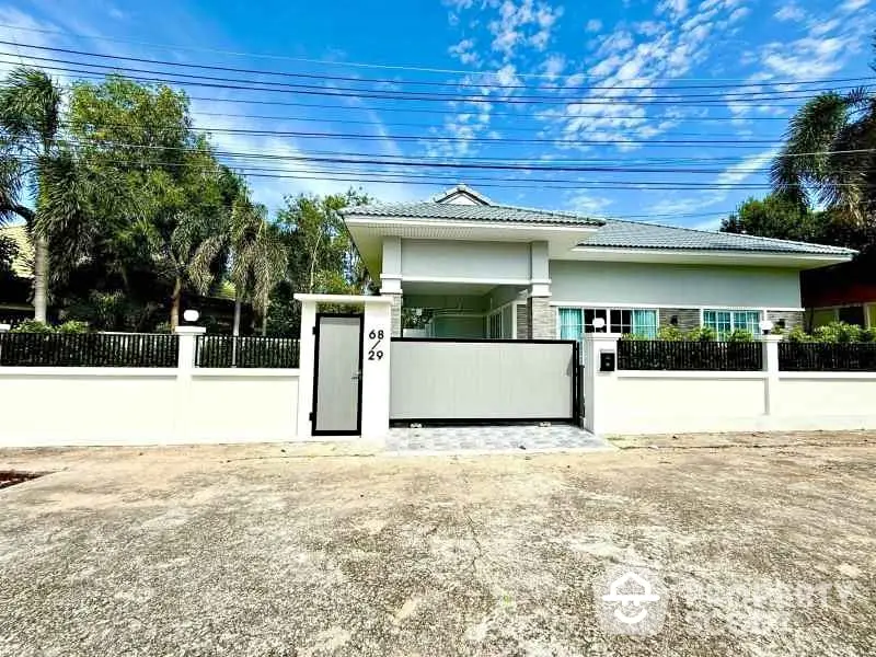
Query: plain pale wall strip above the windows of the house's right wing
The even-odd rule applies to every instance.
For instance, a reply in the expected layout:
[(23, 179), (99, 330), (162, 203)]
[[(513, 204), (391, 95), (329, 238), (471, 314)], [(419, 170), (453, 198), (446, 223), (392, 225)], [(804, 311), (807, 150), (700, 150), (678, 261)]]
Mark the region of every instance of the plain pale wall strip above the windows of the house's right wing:
[(551, 261), (550, 273), (554, 306), (800, 308), (796, 269)]

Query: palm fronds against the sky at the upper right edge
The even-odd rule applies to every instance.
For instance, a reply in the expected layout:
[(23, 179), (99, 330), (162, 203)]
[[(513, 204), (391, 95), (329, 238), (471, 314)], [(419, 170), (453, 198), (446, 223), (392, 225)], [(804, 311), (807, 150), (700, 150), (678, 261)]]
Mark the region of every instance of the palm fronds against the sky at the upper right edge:
[[(872, 68), (876, 71), (876, 62)], [(868, 89), (828, 92), (800, 107), (773, 162), (772, 183), (777, 193), (803, 206), (823, 206), (855, 226), (872, 223), (876, 216), (876, 94)]]

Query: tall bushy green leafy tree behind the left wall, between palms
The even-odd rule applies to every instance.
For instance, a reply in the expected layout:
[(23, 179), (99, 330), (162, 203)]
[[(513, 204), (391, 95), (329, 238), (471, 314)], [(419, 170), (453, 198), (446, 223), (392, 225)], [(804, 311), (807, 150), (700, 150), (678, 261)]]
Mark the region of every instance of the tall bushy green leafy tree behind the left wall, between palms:
[(118, 181), (101, 206), (113, 268), (123, 280), (148, 268), (166, 289), (175, 328), (184, 291), (204, 293), (221, 272), (226, 254), (207, 260), (200, 250), (226, 229), (238, 178), (192, 129), (185, 94), (165, 85), (78, 83), (70, 130), (89, 166)]

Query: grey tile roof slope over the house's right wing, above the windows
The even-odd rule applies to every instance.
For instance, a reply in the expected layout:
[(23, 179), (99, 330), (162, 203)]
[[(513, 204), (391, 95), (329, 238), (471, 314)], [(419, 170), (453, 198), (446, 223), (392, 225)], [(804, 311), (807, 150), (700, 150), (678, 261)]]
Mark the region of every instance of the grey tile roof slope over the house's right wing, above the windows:
[(855, 251), (840, 246), (773, 240), (677, 226), (660, 226), (641, 221), (607, 219), (606, 224), (581, 246), (625, 249), (682, 249), (698, 251), (749, 251), (762, 253), (854, 255)]

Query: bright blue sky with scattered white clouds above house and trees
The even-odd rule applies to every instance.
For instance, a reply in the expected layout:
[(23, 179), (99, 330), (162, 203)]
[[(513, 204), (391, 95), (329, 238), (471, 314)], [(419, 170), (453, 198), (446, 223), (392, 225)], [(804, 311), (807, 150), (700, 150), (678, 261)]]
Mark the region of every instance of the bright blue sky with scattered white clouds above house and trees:
[[(766, 182), (764, 168), (806, 90), (854, 84), (807, 81), (873, 76), (868, 2), (0, 2), (0, 41), (15, 44), (2, 46), (0, 66), (36, 65), (32, 56), (41, 56), (335, 94), (185, 88), (196, 125), (217, 148), (251, 154), (228, 162), (263, 174), (249, 180), (272, 208), (285, 194), (350, 185), (338, 177), (373, 178), (361, 186), (387, 201), (427, 198), (459, 181), (502, 203), (714, 228), (741, 199), (765, 193), (740, 185)], [(412, 93), (447, 96), (399, 97)], [(314, 161), (339, 153), (378, 163)], [(384, 163), (392, 160), (518, 169)], [(612, 171), (526, 169), (564, 164)]]

